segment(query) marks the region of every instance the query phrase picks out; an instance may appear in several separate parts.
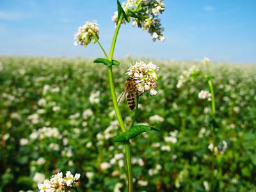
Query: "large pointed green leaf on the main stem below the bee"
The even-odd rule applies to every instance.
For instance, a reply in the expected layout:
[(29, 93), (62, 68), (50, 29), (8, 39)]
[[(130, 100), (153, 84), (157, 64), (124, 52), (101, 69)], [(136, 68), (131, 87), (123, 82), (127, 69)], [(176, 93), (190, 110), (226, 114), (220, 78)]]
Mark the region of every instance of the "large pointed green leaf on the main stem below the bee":
[(147, 131), (158, 131), (158, 130), (154, 127), (150, 127), (147, 125), (134, 125), (127, 131), (122, 132), (121, 134), (116, 136), (113, 139), (113, 141), (115, 141), (115, 142), (129, 141), (129, 140), (135, 138), (136, 136), (138, 136), (139, 134), (141, 134), (142, 132), (147, 132)]

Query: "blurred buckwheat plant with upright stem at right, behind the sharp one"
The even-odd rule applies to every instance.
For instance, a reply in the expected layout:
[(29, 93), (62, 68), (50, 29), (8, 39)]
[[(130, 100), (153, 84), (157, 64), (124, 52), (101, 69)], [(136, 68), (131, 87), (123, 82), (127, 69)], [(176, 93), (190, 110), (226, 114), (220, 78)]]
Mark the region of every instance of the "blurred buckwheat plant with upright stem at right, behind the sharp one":
[[(212, 164), (211, 164), (211, 191), (218, 191), (219, 189), (219, 181), (221, 179), (221, 154), (224, 154), (227, 150), (227, 142), (220, 141), (216, 138), (216, 128), (218, 124), (216, 122), (216, 108), (215, 108), (215, 99), (214, 99), (214, 87), (212, 85), (212, 79), (214, 77), (209, 75), (209, 58), (204, 58), (197, 65), (193, 65), (189, 70), (184, 70), (182, 74), (179, 76), (179, 80), (177, 83), (177, 88), (181, 88), (184, 84), (196, 81), (198, 78), (204, 79), (205, 83), (207, 83), (209, 90), (201, 90), (198, 93), (198, 99), (207, 100), (211, 102), (211, 141), (208, 145), (209, 150), (212, 152)], [(214, 178), (215, 175), (215, 163), (218, 162), (218, 175)]]

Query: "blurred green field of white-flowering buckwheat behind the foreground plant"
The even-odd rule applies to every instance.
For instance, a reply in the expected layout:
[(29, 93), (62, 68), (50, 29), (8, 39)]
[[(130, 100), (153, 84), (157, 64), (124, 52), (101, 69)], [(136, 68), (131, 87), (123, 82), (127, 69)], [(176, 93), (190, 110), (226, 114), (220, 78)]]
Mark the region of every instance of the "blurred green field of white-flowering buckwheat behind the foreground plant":
[[(132, 61), (114, 68), (118, 94)], [(182, 71), (196, 62), (154, 63), (158, 96), (141, 97), (138, 122), (159, 132), (132, 141), (135, 191), (209, 191), (211, 103), (198, 98), (207, 84), (177, 88)], [(210, 68), (221, 191), (256, 191), (256, 66)], [(120, 129), (106, 73), (93, 60), (0, 57), (0, 191), (38, 191), (44, 179), (69, 170), (81, 173), (79, 191), (125, 191), (124, 148), (112, 141)], [(131, 124), (127, 103), (120, 106)]]

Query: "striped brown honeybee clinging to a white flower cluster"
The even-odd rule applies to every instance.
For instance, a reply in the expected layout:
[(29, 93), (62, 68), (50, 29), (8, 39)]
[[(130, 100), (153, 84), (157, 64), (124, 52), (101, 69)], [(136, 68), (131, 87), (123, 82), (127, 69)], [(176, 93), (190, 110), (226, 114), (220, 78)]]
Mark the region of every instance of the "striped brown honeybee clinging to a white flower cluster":
[(125, 96), (127, 99), (127, 104), (131, 110), (133, 110), (135, 108), (136, 96), (139, 94), (138, 90), (136, 88), (136, 84), (143, 82), (143, 81), (141, 81), (141, 82), (136, 83), (136, 80), (137, 79), (135, 79), (133, 77), (128, 77), (126, 79), (125, 84), (124, 84), (124, 92), (121, 94), (120, 98), (118, 99), (118, 103), (119, 103)]

